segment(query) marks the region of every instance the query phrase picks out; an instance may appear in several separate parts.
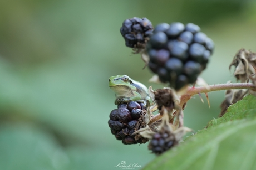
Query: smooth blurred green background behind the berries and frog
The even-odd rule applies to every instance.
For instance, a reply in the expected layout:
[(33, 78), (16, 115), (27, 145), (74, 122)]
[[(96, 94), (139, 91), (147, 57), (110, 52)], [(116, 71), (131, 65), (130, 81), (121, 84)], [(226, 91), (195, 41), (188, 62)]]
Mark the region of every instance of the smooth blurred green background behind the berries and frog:
[[(125, 47), (127, 18), (192, 22), (215, 42), (201, 74), (207, 83), (235, 79), (228, 66), (240, 48), (256, 51), (255, 1), (0, 1), (0, 169), (120, 169), (155, 158), (147, 144), (125, 146), (107, 125), (115, 109), (112, 75), (154, 89), (140, 55)], [(205, 97), (203, 97), (205, 100)], [(188, 102), (195, 132), (218, 117), (224, 91)]]

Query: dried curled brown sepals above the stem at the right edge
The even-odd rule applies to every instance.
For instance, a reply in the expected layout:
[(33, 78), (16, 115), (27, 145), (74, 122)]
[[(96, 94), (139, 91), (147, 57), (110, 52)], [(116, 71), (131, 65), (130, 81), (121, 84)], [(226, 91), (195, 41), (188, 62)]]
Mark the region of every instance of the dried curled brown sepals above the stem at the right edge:
[(229, 65), (229, 69), (233, 65), (235, 66), (234, 76), (242, 83), (248, 83), (250, 76), (256, 73), (256, 53), (240, 49)]

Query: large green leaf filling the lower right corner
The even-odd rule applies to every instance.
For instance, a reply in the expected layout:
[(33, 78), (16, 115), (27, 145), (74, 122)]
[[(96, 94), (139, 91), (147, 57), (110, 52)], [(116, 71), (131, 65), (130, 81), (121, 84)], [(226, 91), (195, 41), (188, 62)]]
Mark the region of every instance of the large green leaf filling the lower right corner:
[(255, 98), (244, 97), (208, 130), (189, 137), (144, 169), (256, 169)]

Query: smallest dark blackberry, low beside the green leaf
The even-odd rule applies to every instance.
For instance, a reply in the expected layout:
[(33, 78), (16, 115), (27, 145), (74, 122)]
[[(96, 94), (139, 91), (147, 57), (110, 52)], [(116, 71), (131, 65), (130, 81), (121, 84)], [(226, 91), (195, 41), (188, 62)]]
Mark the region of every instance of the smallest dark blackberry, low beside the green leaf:
[(173, 133), (168, 130), (162, 130), (154, 134), (148, 147), (152, 153), (161, 154), (178, 143)]

